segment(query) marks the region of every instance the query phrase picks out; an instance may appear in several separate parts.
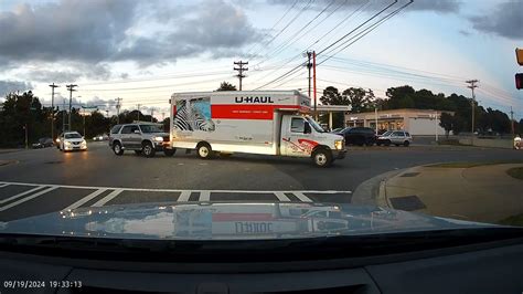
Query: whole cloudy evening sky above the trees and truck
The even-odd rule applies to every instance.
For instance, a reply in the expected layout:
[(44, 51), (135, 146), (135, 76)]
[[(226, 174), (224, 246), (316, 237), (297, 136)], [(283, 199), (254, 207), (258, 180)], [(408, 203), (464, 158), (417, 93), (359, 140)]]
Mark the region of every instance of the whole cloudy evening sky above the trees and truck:
[(465, 81), (479, 80), (480, 105), (522, 118), (523, 0), (408, 2), (0, 0), (0, 101), (31, 90), (50, 106), (54, 83), (62, 106), (76, 84), (73, 106), (115, 114), (120, 97), (122, 109), (161, 119), (172, 93), (238, 85), (235, 61), (248, 62), (243, 90), (307, 93), (309, 50), (318, 97), (330, 85), (385, 97), (406, 84), (471, 96)]

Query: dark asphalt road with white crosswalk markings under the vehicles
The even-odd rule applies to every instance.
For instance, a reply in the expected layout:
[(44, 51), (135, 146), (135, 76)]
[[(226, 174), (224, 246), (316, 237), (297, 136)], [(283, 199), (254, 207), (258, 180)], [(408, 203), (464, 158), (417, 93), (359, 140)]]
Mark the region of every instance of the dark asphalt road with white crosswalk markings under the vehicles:
[(161, 201), (351, 202), (364, 180), (394, 169), (444, 161), (522, 160), (516, 150), (412, 146), (349, 147), (320, 169), (309, 159), (235, 154), (202, 160), (178, 150), (154, 158), (116, 156), (107, 143), (85, 153), (56, 148), (0, 153), (0, 221), (67, 208)]

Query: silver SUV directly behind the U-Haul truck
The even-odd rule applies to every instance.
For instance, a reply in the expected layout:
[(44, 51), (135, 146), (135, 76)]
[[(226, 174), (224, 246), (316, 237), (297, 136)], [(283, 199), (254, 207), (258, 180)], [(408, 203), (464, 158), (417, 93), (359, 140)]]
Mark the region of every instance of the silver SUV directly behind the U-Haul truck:
[(175, 149), (169, 145), (169, 134), (161, 129), (159, 124), (125, 124), (116, 125), (110, 129), (109, 146), (116, 155), (125, 150), (134, 150), (137, 155), (153, 157), (157, 151), (166, 156), (173, 156)]

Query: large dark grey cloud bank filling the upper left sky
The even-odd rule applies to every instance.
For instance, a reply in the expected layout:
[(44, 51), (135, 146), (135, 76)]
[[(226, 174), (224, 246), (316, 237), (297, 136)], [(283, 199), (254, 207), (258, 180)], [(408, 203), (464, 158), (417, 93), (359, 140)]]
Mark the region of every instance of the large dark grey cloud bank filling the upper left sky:
[[(0, 63), (97, 65), (135, 61), (148, 66), (214, 50), (238, 49), (258, 40), (246, 15), (223, 0), (177, 4), (159, 0), (60, 0), (20, 4), (13, 11), (0, 12)], [(78, 77), (68, 71), (41, 72), (63, 80)], [(106, 72), (102, 66), (79, 74), (104, 77)]]

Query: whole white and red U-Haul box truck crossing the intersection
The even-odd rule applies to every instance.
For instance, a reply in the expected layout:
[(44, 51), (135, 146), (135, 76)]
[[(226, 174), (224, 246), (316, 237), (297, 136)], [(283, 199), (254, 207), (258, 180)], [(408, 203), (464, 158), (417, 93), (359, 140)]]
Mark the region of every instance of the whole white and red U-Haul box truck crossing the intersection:
[(319, 167), (345, 156), (342, 136), (311, 117), (310, 98), (298, 91), (174, 93), (171, 148), (214, 153), (310, 157)]

